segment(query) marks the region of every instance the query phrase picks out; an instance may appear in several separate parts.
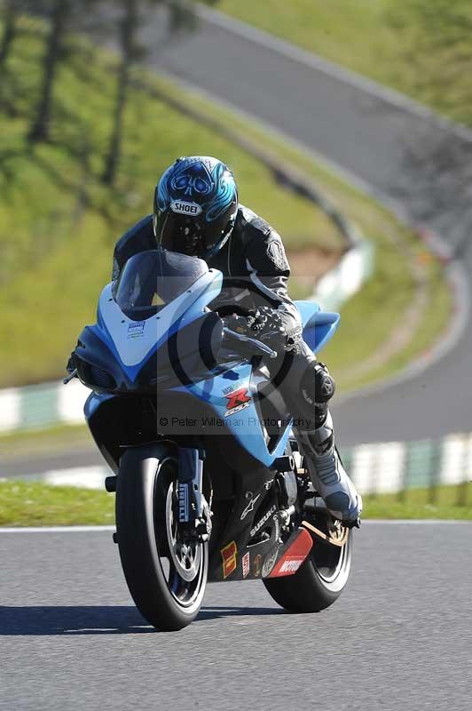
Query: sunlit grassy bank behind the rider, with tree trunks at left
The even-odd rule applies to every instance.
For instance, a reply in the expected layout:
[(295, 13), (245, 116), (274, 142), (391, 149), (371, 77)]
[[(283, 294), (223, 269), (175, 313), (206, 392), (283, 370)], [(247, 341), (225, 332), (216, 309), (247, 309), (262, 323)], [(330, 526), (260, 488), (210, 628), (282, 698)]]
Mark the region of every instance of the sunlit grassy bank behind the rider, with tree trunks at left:
[(61, 376), (78, 333), (94, 321), (115, 240), (151, 211), (153, 186), (177, 156), (221, 156), (240, 181), (242, 200), (287, 244), (332, 244), (322, 214), (280, 188), (262, 164), (135, 88), (115, 186), (104, 187), (116, 62), (80, 38), (58, 74), (51, 140), (32, 148), (25, 135), (42, 51), (41, 26), (28, 20), (2, 84), (14, 113), (0, 108), (0, 386)]

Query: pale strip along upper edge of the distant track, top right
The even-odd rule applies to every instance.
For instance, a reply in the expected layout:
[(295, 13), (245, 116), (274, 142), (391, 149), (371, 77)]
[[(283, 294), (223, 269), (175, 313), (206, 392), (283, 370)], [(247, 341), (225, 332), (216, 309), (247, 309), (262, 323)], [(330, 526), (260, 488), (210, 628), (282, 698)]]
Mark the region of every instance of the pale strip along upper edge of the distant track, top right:
[(362, 92), (366, 92), (371, 96), (374, 96), (376, 99), (386, 101), (393, 106), (402, 108), (414, 116), (419, 116), (420, 118), (432, 121), (444, 130), (452, 132), (464, 140), (472, 141), (472, 131), (470, 131), (467, 126), (463, 124), (456, 124), (450, 119), (444, 118), (444, 116), (438, 116), (431, 108), (421, 104), (419, 101), (415, 101), (410, 97), (405, 96), (405, 94), (401, 92), (397, 92), (395, 89), (391, 89), (385, 84), (375, 82), (374, 79), (369, 79), (362, 74), (358, 74), (358, 72), (355, 72), (352, 69), (343, 68), (340, 65), (335, 64), (333, 61), (320, 57), (319, 54), (303, 50), (301, 47), (291, 44), (290, 42), (287, 42), (277, 36), (273, 36), (270, 33), (265, 32), (263, 29), (258, 29), (253, 25), (248, 25), (242, 20), (236, 20), (235, 18), (224, 14), (224, 12), (210, 10), (204, 5), (199, 5), (197, 15), (201, 18), (201, 20), (205, 20), (209, 24), (215, 25), (215, 27), (223, 28), (227, 32), (243, 37), (254, 44), (260, 44), (261, 46), (270, 49), (271, 52), (277, 52), (278, 54), (287, 57), (289, 60), (305, 65), (305, 67), (317, 69), (326, 76), (331, 76), (344, 84), (349, 84)]

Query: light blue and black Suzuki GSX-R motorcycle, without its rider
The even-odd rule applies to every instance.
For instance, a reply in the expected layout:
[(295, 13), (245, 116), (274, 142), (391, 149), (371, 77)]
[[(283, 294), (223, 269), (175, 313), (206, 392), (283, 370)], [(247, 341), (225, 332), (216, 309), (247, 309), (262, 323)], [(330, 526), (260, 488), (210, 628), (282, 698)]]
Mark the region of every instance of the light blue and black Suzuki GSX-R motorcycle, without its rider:
[[(127, 261), (85, 326), (67, 382), (91, 388), (84, 413), (113, 475), (130, 594), (146, 620), (177, 630), (207, 582), (260, 579), (292, 612), (321, 611), (350, 574), (352, 531), (313, 490), (291, 418), (271, 383), (277, 354), (208, 308), (222, 273), (164, 250)], [(339, 315), (295, 302), (317, 353)]]

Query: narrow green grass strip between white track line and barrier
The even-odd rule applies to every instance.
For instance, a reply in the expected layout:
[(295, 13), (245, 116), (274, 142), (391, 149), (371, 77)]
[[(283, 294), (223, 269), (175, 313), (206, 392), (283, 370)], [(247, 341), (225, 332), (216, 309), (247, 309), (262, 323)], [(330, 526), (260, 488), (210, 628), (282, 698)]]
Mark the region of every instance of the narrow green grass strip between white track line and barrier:
[[(472, 483), (367, 496), (364, 518), (472, 520)], [(460, 503), (462, 502), (462, 503)], [(104, 525), (114, 523), (114, 495), (72, 486), (0, 482), (0, 526)]]

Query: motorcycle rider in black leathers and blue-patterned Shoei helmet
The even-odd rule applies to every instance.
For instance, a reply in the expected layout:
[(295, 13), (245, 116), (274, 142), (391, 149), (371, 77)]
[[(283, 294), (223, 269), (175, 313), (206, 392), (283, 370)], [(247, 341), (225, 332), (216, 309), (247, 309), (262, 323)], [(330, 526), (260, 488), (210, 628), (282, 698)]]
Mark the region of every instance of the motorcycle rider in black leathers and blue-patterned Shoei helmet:
[(232, 330), (265, 340), (281, 354), (275, 375), (271, 369), (272, 381), (295, 418), (312, 483), (335, 518), (357, 523), (362, 499), (334, 447), (327, 406), (334, 379), (303, 341), (298, 309), (287, 294), (290, 271), (278, 233), (239, 204), (234, 177), (224, 163), (210, 156), (186, 156), (162, 174), (153, 215), (115, 245), (113, 278), (132, 255), (155, 249), (156, 240), (163, 249), (200, 257), (223, 272), (223, 291), (212, 308), (232, 304), (240, 313), (251, 310), (249, 316), (245, 311), (245, 316), (224, 320)]

